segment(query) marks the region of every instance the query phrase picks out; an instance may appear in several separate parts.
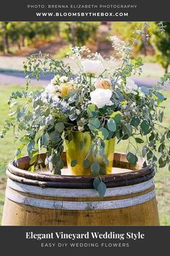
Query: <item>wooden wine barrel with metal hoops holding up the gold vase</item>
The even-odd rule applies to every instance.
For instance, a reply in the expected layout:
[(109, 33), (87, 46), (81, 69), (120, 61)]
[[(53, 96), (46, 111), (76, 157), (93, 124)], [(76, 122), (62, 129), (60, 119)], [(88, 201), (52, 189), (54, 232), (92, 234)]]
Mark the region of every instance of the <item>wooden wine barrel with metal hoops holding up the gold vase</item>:
[(100, 198), (93, 176), (69, 176), (66, 170), (61, 176), (31, 173), (29, 162), (20, 158), (18, 167), (10, 163), (6, 171), (4, 226), (159, 225), (151, 165), (134, 168), (126, 155), (115, 153), (113, 173), (102, 176), (107, 192)]

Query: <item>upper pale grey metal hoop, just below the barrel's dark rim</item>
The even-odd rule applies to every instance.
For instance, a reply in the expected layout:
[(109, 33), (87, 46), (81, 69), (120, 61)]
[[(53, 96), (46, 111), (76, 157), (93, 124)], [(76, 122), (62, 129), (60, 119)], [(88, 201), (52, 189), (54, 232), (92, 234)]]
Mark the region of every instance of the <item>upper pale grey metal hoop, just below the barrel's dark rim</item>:
[[(99, 197), (95, 189), (60, 189), (60, 188), (42, 188), (14, 182), (12, 179), (8, 179), (7, 185), (18, 192), (24, 192), (31, 195), (42, 195), (50, 197)], [(119, 195), (130, 195), (138, 192), (142, 192), (154, 186), (153, 179), (148, 180), (140, 184), (125, 186), (125, 187), (113, 187), (108, 188), (104, 197), (114, 197)]]

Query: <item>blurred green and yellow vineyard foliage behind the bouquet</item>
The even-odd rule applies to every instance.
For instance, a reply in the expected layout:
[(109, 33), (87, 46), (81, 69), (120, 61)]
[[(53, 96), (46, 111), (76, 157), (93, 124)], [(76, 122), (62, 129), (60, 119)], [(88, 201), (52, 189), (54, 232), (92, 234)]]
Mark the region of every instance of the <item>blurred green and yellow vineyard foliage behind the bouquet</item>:
[[(26, 48), (37, 48), (45, 43), (63, 42), (64, 57), (69, 46), (86, 45), (92, 51), (102, 51), (109, 44), (109, 36), (117, 35), (130, 42), (134, 30), (143, 22), (0, 22), (0, 54), (27, 55)], [(134, 57), (142, 55), (144, 61), (159, 62), (168, 71), (170, 64), (170, 22), (164, 22), (165, 32), (161, 33), (158, 23), (149, 22), (148, 40), (143, 35), (134, 48)], [(101, 33), (101, 27), (105, 27)], [(53, 52), (55, 56), (56, 52)]]

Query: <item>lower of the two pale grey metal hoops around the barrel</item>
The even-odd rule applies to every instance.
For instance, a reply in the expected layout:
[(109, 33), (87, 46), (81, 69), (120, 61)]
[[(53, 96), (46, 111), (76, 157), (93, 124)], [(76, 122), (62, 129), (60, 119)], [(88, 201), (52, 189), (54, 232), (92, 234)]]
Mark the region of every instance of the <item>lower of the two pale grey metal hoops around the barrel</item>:
[(6, 197), (13, 202), (17, 202), (22, 205), (28, 205), (35, 208), (47, 208), (57, 210), (108, 210), (117, 208), (127, 208), (135, 205), (140, 205), (144, 202), (148, 202), (156, 196), (155, 189), (144, 195), (138, 197), (132, 197), (122, 200), (112, 201), (97, 201), (97, 202), (71, 202), (71, 201), (56, 201), (38, 199), (33, 197), (24, 197), (22, 195), (14, 194), (10, 189), (6, 189)]

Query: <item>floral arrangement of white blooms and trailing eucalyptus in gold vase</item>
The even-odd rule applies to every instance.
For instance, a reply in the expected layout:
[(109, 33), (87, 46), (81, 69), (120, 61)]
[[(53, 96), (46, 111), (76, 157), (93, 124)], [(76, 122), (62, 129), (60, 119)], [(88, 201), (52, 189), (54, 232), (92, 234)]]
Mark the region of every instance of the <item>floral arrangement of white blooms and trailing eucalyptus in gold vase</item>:
[[(84, 158), (84, 168), (90, 168), (91, 174), (96, 176), (94, 188), (100, 196), (106, 190), (100, 176), (105, 170), (97, 157), (102, 158), (105, 166), (109, 164), (104, 147), (112, 138), (116, 138), (117, 143), (127, 140), (127, 159), (133, 166), (139, 157), (146, 158), (143, 166), (148, 163), (159, 167), (169, 164), (170, 130), (161, 125), (164, 117), (161, 103), (166, 98), (160, 90), (170, 75), (161, 78), (155, 88), (138, 88), (130, 78), (142, 72), (142, 59), (131, 59), (131, 54), (138, 37), (146, 33), (146, 26), (135, 31), (136, 37), (131, 45), (112, 37), (113, 56), (109, 59), (97, 53), (91, 54), (85, 46), (71, 48), (68, 56), (73, 59), (76, 69), (48, 54), (28, 58), (24, 63), (27, 86), (32, 77), (40, 79), (40, 74), (53, 73), (54, 77), (45, 90), (31, 93), (25, 90), (12, 93), (9, 98), (11, 117), (6, 121), (1, 137), (10, 127), (14, 130), (17, 127), (15, 136), (20, 145), (16, 161), (27, 147), (30, 171), (34, 171), (41, 164), (39, 154), (45, 150), (48, 169), (53, 174), (61, 174), (64, 142), (73, 140), (73, 132), (88, 132), (91, 137), (89, 153), (94, 160), (91, 163), (88, 153)], [(117, 57), (121, 59), (118, 66)], [(24, 106), (16, 101), (17, 98), (24, 98)], [(83, 141), (79, 147), (83, 150)], [(72, 167), (78, 163), (78, 158), (71, 159)]]

